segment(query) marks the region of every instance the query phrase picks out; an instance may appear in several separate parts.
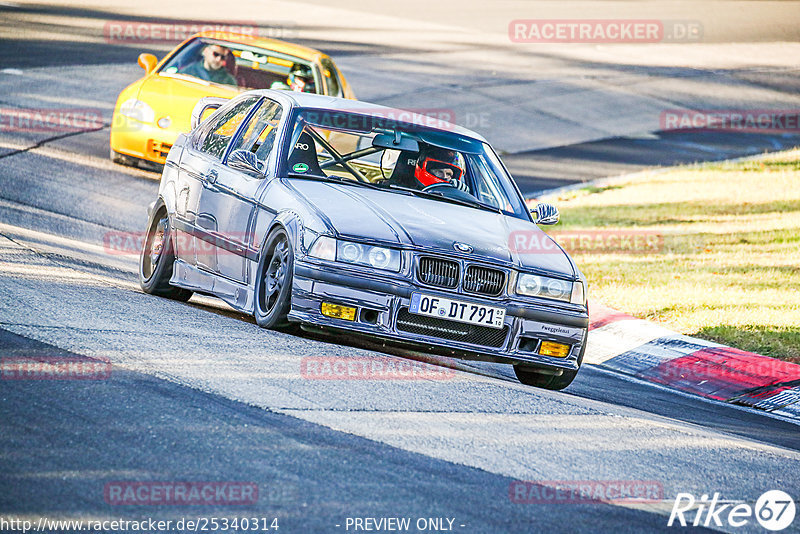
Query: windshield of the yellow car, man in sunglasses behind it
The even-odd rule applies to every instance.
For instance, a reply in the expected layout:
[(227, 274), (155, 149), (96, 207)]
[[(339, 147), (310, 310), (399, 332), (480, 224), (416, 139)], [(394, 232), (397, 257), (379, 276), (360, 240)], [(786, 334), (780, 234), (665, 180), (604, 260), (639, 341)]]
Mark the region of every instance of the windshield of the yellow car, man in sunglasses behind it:
[(304, 59), (250, 45), (196, 38), (161, 68), (167, 76), (190, 76), (245, 89), (291, 89), (322, 93), (318, 69)]

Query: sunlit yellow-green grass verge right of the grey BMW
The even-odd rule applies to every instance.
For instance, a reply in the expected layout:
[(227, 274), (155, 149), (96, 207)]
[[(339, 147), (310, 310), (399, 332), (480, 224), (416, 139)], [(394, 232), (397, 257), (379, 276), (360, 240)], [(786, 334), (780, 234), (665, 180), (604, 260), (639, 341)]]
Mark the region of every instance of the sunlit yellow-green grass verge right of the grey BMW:
[(551, 201), (562, 221), (548, 230), (554, 236), (659, 236), (656, 250), (639, 254), (574, 252), (592, 298), (681, 333), (800, 363), (800, 150), (653, 173)]

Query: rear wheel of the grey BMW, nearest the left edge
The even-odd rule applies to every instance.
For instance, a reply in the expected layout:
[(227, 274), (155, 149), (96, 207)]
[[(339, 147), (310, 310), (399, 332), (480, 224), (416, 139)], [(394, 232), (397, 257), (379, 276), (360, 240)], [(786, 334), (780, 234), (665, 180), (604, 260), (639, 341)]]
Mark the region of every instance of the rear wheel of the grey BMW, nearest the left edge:
[(139, 285), (145, 293), (186, 302), (192, 297), (192, 291), (169, 283), (175, 263), (173, 246), (169, 217), (162, 206), (153, 211), (147, 225), (139, 256)]

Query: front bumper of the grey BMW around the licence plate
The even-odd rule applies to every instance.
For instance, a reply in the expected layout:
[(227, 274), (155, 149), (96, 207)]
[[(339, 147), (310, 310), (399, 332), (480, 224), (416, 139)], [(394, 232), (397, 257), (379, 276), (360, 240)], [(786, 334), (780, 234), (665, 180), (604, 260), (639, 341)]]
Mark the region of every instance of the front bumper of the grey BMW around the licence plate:
[[(413, 292), (504, 307), (504, 327), (502, 331), (488, 327), (475, 329), (460, 323), (431, 321), (411, 315), (407, 308)], [(356, 319), (347, 321), (324, 316), (320, 312), (322, 302), (357, 308)], [(579, 367), (589, 325), (585, 310), (579, 312), (516, 299), (454, 294), (418, 287), (404, 279), (367, 276), (303, 261), (295, 263), (289, 318), (305, 324), (412, 344), (463, 359), (528, 363), (558, 369)], [(418, 320), (419, 324), (410, 326), (409, 320)], [(445, 322), (456, 328), (447, 328)], [(484, 329), (486, 335), (481, 337), (483, 334), (479, 329)], [(537, 351), (542, 341), (568, 344), (571, 349), (565, 358), (540, 355)]]

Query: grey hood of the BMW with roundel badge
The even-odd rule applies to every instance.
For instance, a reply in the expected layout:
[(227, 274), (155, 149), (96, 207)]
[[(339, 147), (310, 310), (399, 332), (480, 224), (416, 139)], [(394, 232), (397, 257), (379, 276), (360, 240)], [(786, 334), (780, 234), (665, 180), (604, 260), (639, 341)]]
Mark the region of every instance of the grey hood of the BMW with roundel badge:
[[(375, 239), (450, 255), (456, 254), (454, 243), (465, 243), (473, 248), (471, 256), (475, 258), (483, 256), (518, 268), (575, 276), (567, 254), (530, 221), (366, 187), (306, 179), (287, 179), (285, 183), (342, 237)], [(536, 246), (530, 247), (530, 243)]]

